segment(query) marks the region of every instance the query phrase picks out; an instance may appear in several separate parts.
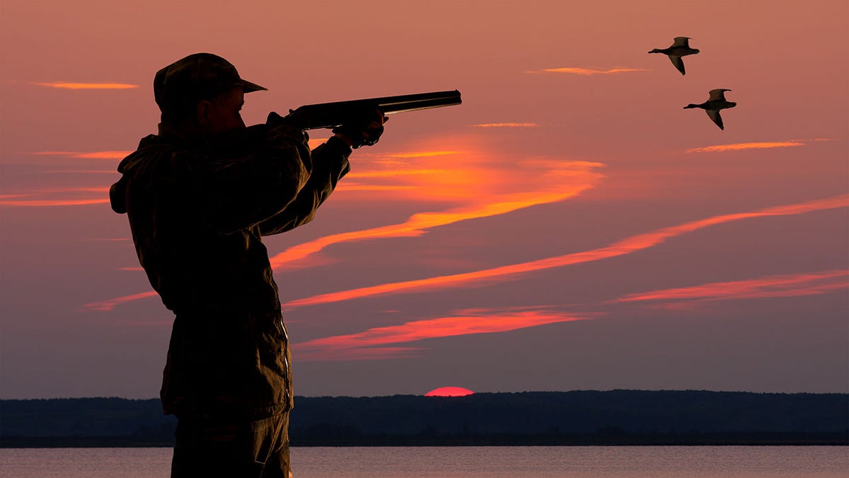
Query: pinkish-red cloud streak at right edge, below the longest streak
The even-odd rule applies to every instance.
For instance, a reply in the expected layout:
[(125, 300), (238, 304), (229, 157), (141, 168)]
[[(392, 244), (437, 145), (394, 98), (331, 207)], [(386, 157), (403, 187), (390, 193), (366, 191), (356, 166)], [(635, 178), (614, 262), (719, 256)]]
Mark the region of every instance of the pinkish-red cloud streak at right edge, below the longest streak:
[(694, 287), (661, 289), (628, 294), (614, 302), (708, 301), (799, 297), (829, 293), (849, 287), (849, 270), (822, 270), (800, 274), (763, 276), (733, 282), (711, 282)]

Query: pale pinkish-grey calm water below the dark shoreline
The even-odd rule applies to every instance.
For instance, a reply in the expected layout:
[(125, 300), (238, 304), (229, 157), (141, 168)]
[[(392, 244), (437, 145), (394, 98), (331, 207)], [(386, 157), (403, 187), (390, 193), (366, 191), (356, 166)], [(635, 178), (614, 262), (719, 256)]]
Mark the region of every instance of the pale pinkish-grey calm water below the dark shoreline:
[[(297, 478), (849, 476), (849, 447), (296, 447)], [(163, 477), (170, 448), (6, 448), (0, 476)]]

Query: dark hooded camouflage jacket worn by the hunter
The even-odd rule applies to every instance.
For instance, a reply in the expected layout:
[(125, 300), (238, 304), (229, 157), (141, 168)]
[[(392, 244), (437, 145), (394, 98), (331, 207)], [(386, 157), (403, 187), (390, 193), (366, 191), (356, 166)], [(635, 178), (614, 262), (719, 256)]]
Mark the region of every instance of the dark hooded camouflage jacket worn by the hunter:
[(290, 351), (261, 236), (304, 225), (349, 171), (351, 149), (265, 124), (203, 140), (164, 125), (121, 161), (110, 189), (138, 260), (176, 315), (166, 414), (264, 418), (293, 407)]

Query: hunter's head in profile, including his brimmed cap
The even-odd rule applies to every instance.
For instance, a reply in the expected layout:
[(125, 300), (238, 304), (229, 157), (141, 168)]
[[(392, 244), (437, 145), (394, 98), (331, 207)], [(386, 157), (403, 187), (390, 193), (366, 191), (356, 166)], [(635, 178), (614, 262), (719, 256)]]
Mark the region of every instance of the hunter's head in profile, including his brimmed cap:
[(264, 89), (239, 77), (228, 60), (208, 53), (177, 60), (154, 78), (162, 122), (201, 134), (244, 128), (239, 114), (244, 94)]

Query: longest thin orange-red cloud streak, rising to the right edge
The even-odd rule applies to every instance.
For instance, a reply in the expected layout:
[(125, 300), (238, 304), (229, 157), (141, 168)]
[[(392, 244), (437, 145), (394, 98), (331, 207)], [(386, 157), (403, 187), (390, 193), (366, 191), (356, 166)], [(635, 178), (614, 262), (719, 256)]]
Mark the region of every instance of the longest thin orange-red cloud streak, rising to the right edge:
[(662, 242), (666, 242), (675, 236), (680, 236), (693, 230), (700, 230), (711, 225), (728, 223), (741, 219), (752, 219), (768, 216), (782, 216), (791, 214), (809, 213), (831, 208), (845, 208), (849, 206), (849, 195), (837, 196), (828, 199), (820, 199), (811, 202), (801, 202), (774, 208), (764, 208), (750, 213), (732, 213), (713, 216), (674, 225), (659, 230), (653, 230), (644, 234), (626, 237), (621, 241), (614, 242), (604, 248), (596, 248), (580, 253), (569, 253), (547, 259), (539, 259), (531, 262), (503, 265), (492, 269), (475, 270), (449, 276), (434, 276), (405, 282), (391, 282), (371, 287), (360, 287), (335, 293), (323, 293), (304, 299), (295, 299), (284, 307), (301, 307), (304, 305), (327, 304), (343, 300), (361, 299), (385, 293), (416, 293), (444, 289), (447, 287), (470, 287), (482, 283), (513, 281), (518, 277), (537, 270), (547, 270), (565, 265), (581, 264), (601, 259), (609, 259), (651, 248)]

